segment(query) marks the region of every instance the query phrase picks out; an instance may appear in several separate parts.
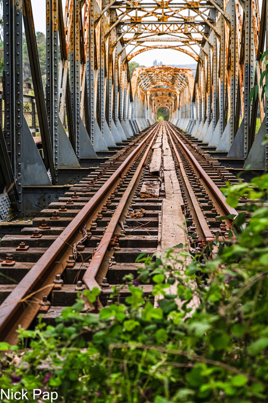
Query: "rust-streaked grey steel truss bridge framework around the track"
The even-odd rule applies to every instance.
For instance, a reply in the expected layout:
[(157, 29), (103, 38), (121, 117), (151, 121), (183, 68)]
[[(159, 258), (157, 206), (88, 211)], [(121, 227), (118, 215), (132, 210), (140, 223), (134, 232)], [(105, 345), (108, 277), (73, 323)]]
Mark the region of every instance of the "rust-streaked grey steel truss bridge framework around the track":
[[(36, 215), (65, 183), (154, 124), (159, 107), (227, 164), (267, 170), (268, 103), (261, 89), (250, 100), (264, 73), (267, 0), (66, 0), (65, 8), (46, 0), (45, 89), (31, 0), (3, 3), (0, 220)], [(31, 85), (23, 82), (23, 30)], [(128, 61), (155, 48), (190, 55), (195, 77), (163, 65), (130, 79)], [(25, 103), (34, 120), (37, 112), (35, 130)]]

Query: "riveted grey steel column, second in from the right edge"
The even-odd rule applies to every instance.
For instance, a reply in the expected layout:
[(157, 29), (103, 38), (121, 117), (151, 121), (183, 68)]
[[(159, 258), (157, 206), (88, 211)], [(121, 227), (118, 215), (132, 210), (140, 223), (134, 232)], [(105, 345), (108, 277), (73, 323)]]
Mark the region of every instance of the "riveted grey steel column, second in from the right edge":
[(245, 66), (244, 66), (244, 158), (248, 154), (250, 127), (249, 93), (253, 78), (253, 46), (251, 37), (251, 0), (245, 1)]

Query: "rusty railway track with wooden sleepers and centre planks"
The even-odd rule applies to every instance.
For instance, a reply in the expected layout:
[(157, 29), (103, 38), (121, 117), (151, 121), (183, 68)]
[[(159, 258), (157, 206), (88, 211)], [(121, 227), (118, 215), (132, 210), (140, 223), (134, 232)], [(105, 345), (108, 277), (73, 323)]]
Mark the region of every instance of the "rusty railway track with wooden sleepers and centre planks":
[[(217, 233), (228, 237), (230, 222), (216, 220), (237, 214), (219, 190), (227, 180), (237, 183), (171, 123), (147, 129), (42, 210), (32, 228), (3, 237), (0, 340), (15, 343), (19, 324), (33, 326), (40, 314), (54, 324), (85, 288), (101, 290), (98, 305), (89, 309), (110, 303), (111, 287), (127, 274), (137, 276), (141, 253), (171, 247), (183, 237), (176, 220), (193, 253)], [(175, 231), (168, 230), (170, 220)], [(150, 295), (152, 285), (140, 287)], [(119, 299), (127, 295), (127, 287), (121, 288)]]

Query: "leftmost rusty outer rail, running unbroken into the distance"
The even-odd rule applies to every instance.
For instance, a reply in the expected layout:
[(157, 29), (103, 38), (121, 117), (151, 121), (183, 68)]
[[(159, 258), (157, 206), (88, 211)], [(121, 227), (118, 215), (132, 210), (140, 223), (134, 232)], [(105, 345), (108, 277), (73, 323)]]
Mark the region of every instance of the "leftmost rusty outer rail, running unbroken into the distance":
[(98, 209), (105, 204), (105, 200), (112, 193), (121, 176), (127, 171), (146, 144), (150, 142), (158, 126), (159, 124), (147, 131), (149, 134), (146, 138), (101, 186), (86, 206), (34, 264), (16, 289), (6, 298), (1, 306), (0, 340), (14, 344), (17, 341), (16, 330), (18, 325), (20, 324), (24, 328), (30, 325), (40, 308), (39, 301), (42, 300), (44, 290), (48, 294), (54, 287), (53, 280), (55, 276), (63, 273), (63, 262), (66, 262), (68, 256), (72, 253), (72, 245), (81, 238), (79, 230), (85, 225), (88, 227), (92, 220), (96, 218)]

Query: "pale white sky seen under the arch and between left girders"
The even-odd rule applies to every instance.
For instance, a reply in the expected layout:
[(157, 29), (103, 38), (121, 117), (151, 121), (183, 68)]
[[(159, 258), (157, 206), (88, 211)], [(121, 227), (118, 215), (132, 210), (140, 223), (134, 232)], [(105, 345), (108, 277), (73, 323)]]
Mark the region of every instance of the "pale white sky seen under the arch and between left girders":
[[(62, 0), (63, 7), (65, 8), (65, 0)], [(41, 31), (45, 34), (46, 29), (46, 1), (45, 0), (32, 0), (32, 9), (34, 16), (34, 25), (36, 31)], [(63, 10), (64, 10), (63, 8)], [(153, 49), (141, 53), (133, 57), (131, 61), (150, 67), (153, 65), (154, 60), (162, 61), (163, 64), (192, 64), (195, 63), (192, 57), (185, 53), (178, 52), (172, 49)]]

